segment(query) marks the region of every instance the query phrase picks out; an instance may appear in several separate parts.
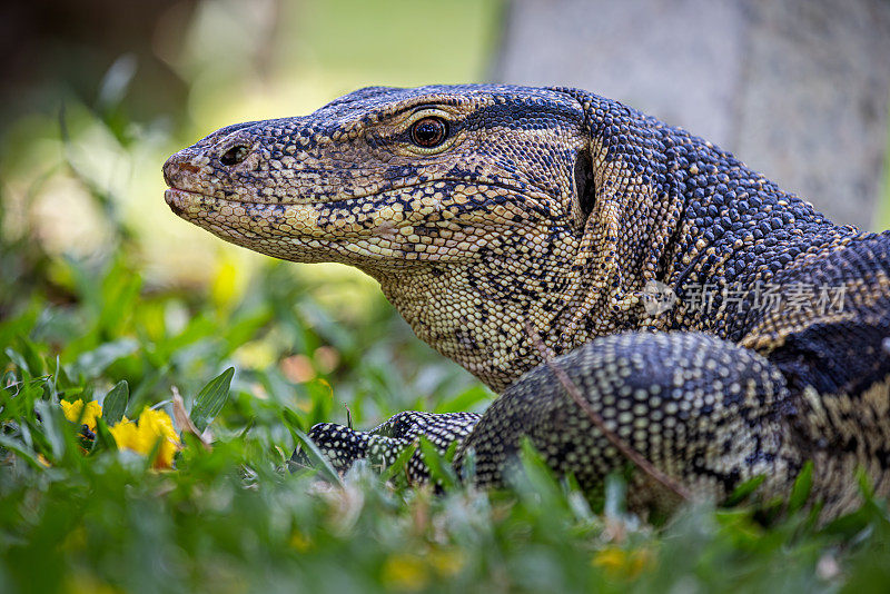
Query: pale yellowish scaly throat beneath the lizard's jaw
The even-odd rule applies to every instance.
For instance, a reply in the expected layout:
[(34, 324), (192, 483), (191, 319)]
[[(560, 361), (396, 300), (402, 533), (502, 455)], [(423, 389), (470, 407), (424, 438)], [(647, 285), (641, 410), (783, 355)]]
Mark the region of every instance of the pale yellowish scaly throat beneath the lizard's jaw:
[(589, 289), (573, 266), (578, 238), (566, 229), (537, 257), (520, 257), (535, 238), (505, 235), (466, 264), (372, 274), (418, 338), (502, 392), (541, 364), (526, 324), (557, 354), (593, 337), (585, 319), (574, 319)]

